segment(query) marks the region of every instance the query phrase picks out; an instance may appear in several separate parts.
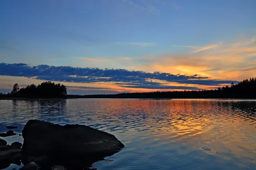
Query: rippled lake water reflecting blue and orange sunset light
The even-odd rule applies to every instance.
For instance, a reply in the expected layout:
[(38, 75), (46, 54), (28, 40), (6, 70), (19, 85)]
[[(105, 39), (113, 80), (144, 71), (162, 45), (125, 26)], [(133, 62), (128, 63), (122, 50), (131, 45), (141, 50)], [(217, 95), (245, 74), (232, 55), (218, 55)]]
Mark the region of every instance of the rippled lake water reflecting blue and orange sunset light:
[[(256, 169), (255, 101), (0, 100), (0, 132), (17, 125), (20, 133), (29, 119), (115, 135), (125, 148), (94, 163), (98, 170)], [(22, 142), (20, 136), (2, 139)]]

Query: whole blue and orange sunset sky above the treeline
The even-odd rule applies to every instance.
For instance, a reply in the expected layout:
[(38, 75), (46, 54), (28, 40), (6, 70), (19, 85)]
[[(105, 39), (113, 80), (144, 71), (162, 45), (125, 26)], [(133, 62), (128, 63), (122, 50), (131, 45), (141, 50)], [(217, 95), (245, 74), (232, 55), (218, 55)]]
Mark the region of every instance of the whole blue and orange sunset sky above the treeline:
[(1, 0), (0, 92), (204, 90), (256, 77), (255, 0)]

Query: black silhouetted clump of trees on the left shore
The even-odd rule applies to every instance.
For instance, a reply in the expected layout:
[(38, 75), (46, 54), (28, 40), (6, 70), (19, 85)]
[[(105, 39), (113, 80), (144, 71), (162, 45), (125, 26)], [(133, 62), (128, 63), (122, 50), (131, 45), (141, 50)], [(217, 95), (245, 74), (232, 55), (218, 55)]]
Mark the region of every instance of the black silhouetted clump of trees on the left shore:
[(16, 83), (12, 92), (8, 94), (0, 93), (0, 97), (25, 97), (25, 98), (66, 98), (67, 88), (60, 83), (42, 82), (41, 85), (28, 85), (26, 88), (19, 88)]

